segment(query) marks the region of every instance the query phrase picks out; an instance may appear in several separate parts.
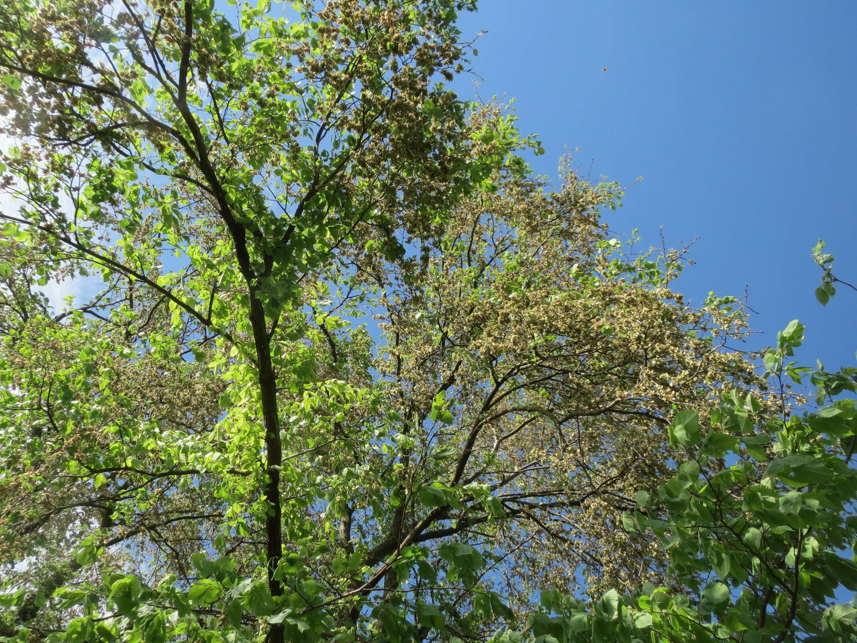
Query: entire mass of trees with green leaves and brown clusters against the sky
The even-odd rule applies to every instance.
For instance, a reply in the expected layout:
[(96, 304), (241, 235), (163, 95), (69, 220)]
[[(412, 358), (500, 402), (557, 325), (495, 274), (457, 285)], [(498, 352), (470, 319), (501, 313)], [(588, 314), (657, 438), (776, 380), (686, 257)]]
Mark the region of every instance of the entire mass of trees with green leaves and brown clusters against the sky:
[(0, 9), (0, 638), (854, 639), (854, 373), (532, 177), (471, 4)]

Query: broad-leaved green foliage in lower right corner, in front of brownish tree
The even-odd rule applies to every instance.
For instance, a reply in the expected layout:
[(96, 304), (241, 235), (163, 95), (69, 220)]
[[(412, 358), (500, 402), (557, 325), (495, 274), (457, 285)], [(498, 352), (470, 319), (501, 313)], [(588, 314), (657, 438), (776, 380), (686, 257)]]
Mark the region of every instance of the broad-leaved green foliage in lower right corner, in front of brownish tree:
[[(802, 327), (792, 322), (780, 339), (778, 350), (792, 354)], [(708, 430), (697, 414), (677, 413), (670, 435), (687, 460), (641, 491), (624, 521), (668, 551), (668, 586), (589, 604), (542, 592), (530, 640), (855, 640), (857, 608), (834, 604), (837, 588), (857, 591), (854, 404), (773, 418), (752, 395), (724, 395)]]

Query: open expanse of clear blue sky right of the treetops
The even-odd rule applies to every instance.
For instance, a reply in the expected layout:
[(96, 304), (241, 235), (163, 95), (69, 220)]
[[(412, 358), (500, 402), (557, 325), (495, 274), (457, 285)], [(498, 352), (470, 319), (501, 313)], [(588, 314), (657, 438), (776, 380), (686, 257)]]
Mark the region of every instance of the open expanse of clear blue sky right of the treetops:
[[(631, 183), (614, 231), (643, 243), (701, 237), (675, 282), (699, 303), (749, 286), (763, 334), (794, 318), (799, 358), (854, 365), (857, 293), (815, 301), (818, 237), (857, 282), (857, 2), (482, 0), (459, 22), (477, 41), (479, 93), (517, 99), (541, 135), (538, 173), (566, 148), (593, 176)], [(607, 71), (602, 71), (606, 67)], [(456, 82), (462, 97), (470, 77)]]

